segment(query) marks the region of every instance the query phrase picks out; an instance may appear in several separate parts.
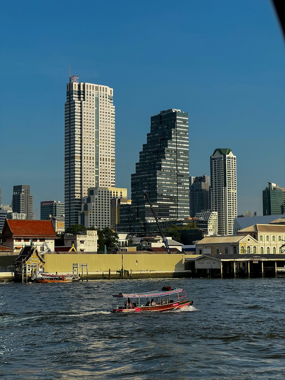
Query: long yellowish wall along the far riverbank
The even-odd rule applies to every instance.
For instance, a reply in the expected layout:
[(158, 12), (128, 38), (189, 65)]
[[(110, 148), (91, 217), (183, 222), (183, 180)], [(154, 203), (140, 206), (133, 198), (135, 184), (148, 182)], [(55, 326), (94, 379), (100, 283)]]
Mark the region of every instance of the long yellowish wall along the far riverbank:
[[(104, 255), (81, 253), (44, 255), (44, 271), (67, 273), (72, 272), (73, 263), (88, 263), (88, 272), (120, 271), (122, 255)], [(162, 255), (129, 255), (123, 254), (123, 269), (136, 271), (184, 271), (183, 254)]]

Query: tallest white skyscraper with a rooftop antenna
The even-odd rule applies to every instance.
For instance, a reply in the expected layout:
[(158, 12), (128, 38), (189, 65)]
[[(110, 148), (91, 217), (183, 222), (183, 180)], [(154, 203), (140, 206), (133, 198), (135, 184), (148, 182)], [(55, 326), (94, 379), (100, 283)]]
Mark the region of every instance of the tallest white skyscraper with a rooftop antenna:
[(67, 83), (65, 103), (65, 227), (78, 224), (89, 187), (115, 187), (115, 107), (113, 89)]

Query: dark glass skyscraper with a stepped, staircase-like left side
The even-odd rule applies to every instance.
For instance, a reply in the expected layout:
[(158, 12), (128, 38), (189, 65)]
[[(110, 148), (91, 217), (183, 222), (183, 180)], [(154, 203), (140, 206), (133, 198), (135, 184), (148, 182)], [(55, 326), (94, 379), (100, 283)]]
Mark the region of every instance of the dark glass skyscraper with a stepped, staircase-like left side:
[(120, 208), (120, 223), (152, 222), (142, 191), (147, 190), (160, 220), (189, 216), (188, 113), (161, 111), (150, 118), (150, 133), (131, 174), (131, 205)]

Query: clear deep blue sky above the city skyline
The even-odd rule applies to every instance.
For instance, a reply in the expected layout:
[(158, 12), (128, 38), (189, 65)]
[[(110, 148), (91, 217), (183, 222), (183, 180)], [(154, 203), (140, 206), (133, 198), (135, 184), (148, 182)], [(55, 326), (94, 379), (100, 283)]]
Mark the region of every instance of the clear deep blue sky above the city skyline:
[(190, 175), (237, 156), (238, 213), (262, 215), (267, 182), (285, 187), (285, 47), (269, 0), (2, 4), (2, 203), (29, 184), (64, 201), (68, 70), (114, 89), (116, 185), (127, 187), (150, 116), (189, 113)]

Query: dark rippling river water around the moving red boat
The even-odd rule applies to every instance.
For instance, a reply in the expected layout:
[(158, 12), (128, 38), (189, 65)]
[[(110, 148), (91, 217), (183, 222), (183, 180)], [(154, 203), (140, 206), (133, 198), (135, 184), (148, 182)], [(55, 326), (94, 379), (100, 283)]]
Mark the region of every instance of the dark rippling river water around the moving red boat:
[[(112, 293), (182, 287), (193, 307), (122, 313)], [(0, 284), (0, 378), (284, 379), (285, 279)]]

